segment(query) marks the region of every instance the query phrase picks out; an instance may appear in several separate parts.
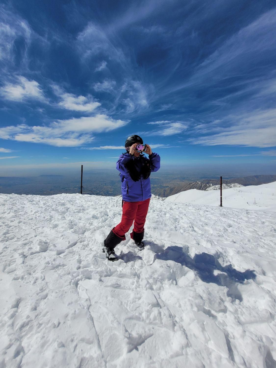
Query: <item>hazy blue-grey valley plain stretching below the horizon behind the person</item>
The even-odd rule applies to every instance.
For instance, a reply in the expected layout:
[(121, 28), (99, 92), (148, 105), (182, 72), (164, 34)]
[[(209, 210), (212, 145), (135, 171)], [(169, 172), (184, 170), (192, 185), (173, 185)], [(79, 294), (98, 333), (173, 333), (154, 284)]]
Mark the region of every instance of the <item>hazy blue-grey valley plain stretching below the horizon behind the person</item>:
[[(152, 194), (169, 197), (190, 189), (207, 190), (218, 185), (219, 176), (212, 173), (194, 174), (189, 171), (163, 171), (151, 175)], [(276, 175), (237, 177), (223, 176), (224, 184), (238, 183), (244, 186), (260, 185), (276, 181)], [(80, 192), (80, 174), (39, 175), (29, 177), (0, 177), (0, 193), (54, 195)], [(121, 181), (117, 170), (93, 170), (84, 172), (83, 194), (105, 196), (121, 195)]]

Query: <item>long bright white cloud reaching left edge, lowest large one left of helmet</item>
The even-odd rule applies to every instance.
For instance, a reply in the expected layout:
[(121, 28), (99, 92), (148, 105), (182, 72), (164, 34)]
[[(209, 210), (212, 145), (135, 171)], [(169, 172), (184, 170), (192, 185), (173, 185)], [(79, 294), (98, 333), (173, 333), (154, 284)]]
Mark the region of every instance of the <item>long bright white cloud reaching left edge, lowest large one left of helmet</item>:
[(19, 142), (43, 143), (57, 147), (77, 147), (90, 143), (92, 133), (108, 132), (127, 124), (106, 115), (58, 120), (49, 126), (25, 124), (0, 128), (0, 138)]

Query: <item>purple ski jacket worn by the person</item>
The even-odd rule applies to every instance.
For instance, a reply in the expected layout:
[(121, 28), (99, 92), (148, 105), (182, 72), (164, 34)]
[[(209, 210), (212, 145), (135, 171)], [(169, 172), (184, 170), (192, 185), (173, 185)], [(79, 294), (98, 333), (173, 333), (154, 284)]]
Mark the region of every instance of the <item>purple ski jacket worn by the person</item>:
[[(151, 160), (151, 172), (158, 171), (160, 169), (160, 156), (157, 153), (152, 153), (149, 159)], [(140, 180), (133, 181), (128, 169), (125, 167), (125, 164), (130, 160), (134, 160), (136, 169), (141, 173), (143, 160), (148, 160), (148, 158), (142, 154), (139, 157), (134, 157), (130, 153), (120, 155), (116, 163), (116, 169), (120, 171), (123, 201), (145, 201), (145, 199), (151, 198), (151, 180), (149, 177), (144, 179), (143, 175), (141, 175)]]

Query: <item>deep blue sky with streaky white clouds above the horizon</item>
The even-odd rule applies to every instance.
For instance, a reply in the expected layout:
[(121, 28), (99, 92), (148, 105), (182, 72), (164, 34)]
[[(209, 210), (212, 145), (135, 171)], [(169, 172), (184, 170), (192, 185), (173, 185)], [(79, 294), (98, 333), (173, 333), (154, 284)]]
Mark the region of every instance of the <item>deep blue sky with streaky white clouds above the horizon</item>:
[(275, 1), (4, 1), (0, 176), (165, 166), (276, 173)]

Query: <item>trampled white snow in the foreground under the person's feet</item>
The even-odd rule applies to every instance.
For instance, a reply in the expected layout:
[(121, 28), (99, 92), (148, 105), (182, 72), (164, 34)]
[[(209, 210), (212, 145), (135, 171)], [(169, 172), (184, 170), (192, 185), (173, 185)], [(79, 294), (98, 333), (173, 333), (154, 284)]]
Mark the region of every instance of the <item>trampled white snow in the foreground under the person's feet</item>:
[(112, 263), (116, 200), (0, 194), (0, 367), (276, 367), (276, 214), (152, 200)]

